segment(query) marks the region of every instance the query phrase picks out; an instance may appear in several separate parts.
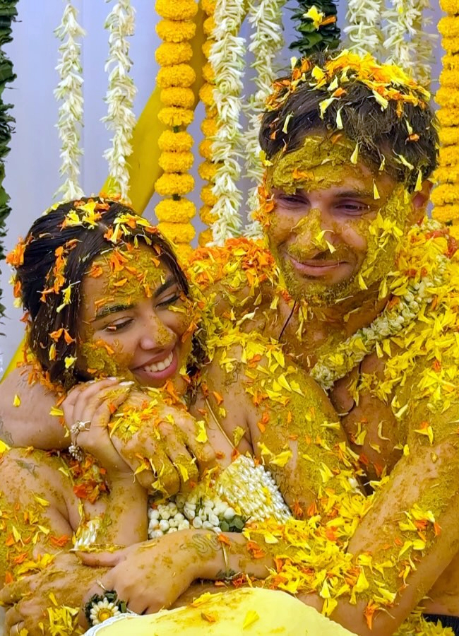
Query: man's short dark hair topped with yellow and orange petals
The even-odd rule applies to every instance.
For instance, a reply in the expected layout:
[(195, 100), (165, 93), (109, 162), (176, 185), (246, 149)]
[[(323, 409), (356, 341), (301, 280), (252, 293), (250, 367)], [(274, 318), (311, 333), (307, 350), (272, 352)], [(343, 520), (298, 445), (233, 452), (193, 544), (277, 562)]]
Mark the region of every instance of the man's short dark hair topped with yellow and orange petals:
[[(352, 58), (354, 69), (350, 64), (345, 81), (338, 83), (340, 95), (321, 112), (321, 102), (333, 96), (335, 89), (330, 90), (330, 85), (334, 77), (342, 78), (342, 69), (335, 76), (329, 74), (322, 86), (314, 69), (326, 69), (327, 62), (336, 61), (339, 56), (343, 61)], [(315, 131), (342, 133), (359, 144), (360, 158), (376, 168), (384, 160), (384, 170), (412, 190), (419, 170), (422, 179), (426, 179), (437, 165), (439, 137), (436, 117), (428, 102), (429, 93), (410, 78), (404, 85), (396, 72), (394, 81), (385, 85), (376, 73), (378, 69), (381, 74), (390, 73), (391, 67), (378, 65), (370, 57), (363, 59), (362, 67), (365, 61), (373, 61), (373, 66), (368, 64), (367, 68), (368, 73), (371, 69), (376, 71), (374, 85), (371, 74), (364, 76), (362, 81), (356, 60), (362, 61), (346, 52), (316, 54), (299, 62), (296, 72), (301, 76), (300, 81), (295, 83), (291, 77), (276, 81), (274, 95), (268, 100), (270, 110), (265, 112), (261, 122), (261, 148), (270, 159), (278, 151), (288, 153), (301, 147), (305, 137)], [(397, 67), (392, 68), (403, 73)], [(381, 95), (375, 96), (378, 91), (373, 88), (378, 80), (383, 88)], [(393, 96), (387, 100), (386, 107), (382, 97), (385, 87)], [(342, 128), (337, 124), (339, 119)]]

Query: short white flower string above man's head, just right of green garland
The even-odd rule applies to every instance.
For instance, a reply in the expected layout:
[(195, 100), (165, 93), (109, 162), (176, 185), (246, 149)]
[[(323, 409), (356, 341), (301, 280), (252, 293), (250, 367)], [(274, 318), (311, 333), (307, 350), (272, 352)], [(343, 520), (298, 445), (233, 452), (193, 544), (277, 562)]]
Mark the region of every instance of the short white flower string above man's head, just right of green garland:
[(345, 46), (353, 53), (371, 53), (380, 57), (382, 0), (349, 0), (347, 4), (347, 35)]

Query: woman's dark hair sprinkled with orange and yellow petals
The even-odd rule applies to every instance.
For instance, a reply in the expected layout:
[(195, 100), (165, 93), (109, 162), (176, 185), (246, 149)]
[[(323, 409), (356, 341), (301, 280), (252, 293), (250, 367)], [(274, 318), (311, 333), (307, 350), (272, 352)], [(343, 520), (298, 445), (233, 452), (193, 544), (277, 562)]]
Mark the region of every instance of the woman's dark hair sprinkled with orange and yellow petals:
[[(92, 202), (96, 215), (93, 223), (88, 209), (82, 207)], [(136, 223), (132, 227), (131, 223), (129, 231), (121, 230), (121, 240), (113, 240), (123, 217), (124, 223), (129, 223), (126, 215), (136, 216), (119, 201), (98, 197), (69, 201), (37, 218), (23, 242), (23, 262), (16, 264), (16, 282), (20, 283), (20, 298), (29, 314), (28, 345), (42, 369), (49, 372), (49, 379), (66, 389), (87, 379), (76, 365), (67, 369), (66, 358), (76, 358), (81, 283), (102, 252), (141, 240), (172, 272), (181, 292), (187, 298), (191, 296), (174, 250), (152, 225)], [(64, 302), (64, 293), (70, 293), (71, 302)], [(197, 365), (204, 356), (198, 346), (195, 349), (192, 358)]]

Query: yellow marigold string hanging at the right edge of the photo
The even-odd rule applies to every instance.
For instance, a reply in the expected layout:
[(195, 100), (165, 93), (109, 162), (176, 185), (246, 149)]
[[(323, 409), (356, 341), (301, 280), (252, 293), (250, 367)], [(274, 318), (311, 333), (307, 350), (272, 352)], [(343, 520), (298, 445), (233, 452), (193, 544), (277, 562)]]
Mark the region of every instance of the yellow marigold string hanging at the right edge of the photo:
[(441, 128), (437, 186), (432, 192), (432, 216), (452, 225), (451, 235), (459, 238), (459, 0), (440, 0), (446, 12), (439, 21), (441, 46), (446, 51), (435, 100)]

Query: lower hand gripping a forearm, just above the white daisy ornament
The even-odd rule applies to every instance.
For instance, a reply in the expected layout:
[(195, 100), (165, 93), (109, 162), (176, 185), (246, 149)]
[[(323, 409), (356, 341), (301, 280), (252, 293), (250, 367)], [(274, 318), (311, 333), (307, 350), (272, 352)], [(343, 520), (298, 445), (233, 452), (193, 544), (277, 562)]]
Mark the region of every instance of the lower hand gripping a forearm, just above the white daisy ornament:
[[(219, 549), (217, 536), (207, 534), (215, 555)], [(183, 530), (116, 553), (79, 553), (78, 556), (86, 565), (113, 566), (100, 578), (102, 585), (116, 591), (130, 610), (149, 614), (169, 608), (193, 580), (201, 576), (201, 560), (190, 541), (191, 536), (192, 531)], [(100, 587), (91, 588), (83, 603), (93, 594), (101, 594)]]

